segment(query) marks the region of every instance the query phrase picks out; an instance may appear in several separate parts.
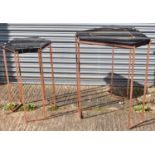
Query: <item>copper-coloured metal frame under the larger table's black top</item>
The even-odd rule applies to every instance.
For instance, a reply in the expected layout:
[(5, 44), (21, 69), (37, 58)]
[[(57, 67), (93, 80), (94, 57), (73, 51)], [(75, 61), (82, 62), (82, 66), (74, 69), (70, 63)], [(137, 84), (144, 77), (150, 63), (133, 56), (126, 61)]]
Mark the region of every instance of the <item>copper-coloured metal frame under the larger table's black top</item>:
[[(111, 74), (111, 93), (113, 85), (113, 74), (114, 74), (114, 47), (129, 49), (129, 65), (128, 65), (128, 84), (127, 84), (127, 97), (128, 97), (128, 86), (130, 83), (130, 98), (129, 98), (129, 112), (128, 112), (128, 128), (131, 128), (131, 114), (133, 110), (133, 81), (134, 81), (134, 65), (135, 65), (135, 46), (125, 46), (125, 45), (113, 45), (107, 43), (96, 43), (89, 41), (81, 41), (79, 37), (75, 39), (76, 45), (76, 80), (77, 80), (77, 111), (80, 118), (82, 118), (82, 109), (81, 109), (81, 92), (80, 92), (80, 44), (88, 45), (100, 45), (100, 46), (111, 46), (112, 47), (112, 74)], [(147, 48), (147, 60), (146, 60), (146, 71), (145, 71), (145, 81), (144, 81), (144, 97), (143, 97), (143, 110), (142, 110), (142, 119), (144, 120), (144, 106), (146, 100), (146, 89), (148, 81), (148, 65), (149, 65), (149, 53), (150, 53), (151, 42), (148, 44)]]

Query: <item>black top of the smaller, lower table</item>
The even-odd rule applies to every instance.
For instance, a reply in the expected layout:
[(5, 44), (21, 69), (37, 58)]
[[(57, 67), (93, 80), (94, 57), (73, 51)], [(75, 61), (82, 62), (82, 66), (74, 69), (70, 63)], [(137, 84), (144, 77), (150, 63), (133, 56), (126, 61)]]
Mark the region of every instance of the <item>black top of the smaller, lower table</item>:
[(37, 49), (44, 49), (50, 44), (50, 40), (40, 37), (15, 38), (6, 43), (5, 48), (12, 52), (28, 53), (37, 52)]

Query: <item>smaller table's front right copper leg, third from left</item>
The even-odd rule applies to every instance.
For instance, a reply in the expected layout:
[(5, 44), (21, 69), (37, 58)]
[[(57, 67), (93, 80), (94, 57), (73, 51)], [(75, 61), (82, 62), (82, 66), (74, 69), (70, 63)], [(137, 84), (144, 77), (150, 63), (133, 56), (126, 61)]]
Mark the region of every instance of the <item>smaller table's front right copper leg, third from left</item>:
[(38, 49), (38, 59), (39, 59), (39, 69), (40, 69), (40, 81), (41, 81), (41, 95), (42, 95), (42, 113), (44, 118), (46, 117), (46, 92), (45, 92), (45, 81), (44, 81), (44, 71), (43, 71), (43, 61), (42, 61), (42, 49)]

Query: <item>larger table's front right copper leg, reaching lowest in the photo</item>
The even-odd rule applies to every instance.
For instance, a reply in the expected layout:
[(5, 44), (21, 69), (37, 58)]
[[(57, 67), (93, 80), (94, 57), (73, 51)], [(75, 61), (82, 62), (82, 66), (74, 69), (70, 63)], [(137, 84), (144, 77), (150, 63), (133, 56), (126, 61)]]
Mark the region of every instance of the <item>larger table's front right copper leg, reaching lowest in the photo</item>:
[(131, 128), (131, 113), (133, 108), (133, 81), (134, 81), (134, 64), (135, 64), (135, 47), (132, 51), (132, 72), (130, 82), (130, 100), (129, 100), (129, 113), (128, 113), (128, 128)]

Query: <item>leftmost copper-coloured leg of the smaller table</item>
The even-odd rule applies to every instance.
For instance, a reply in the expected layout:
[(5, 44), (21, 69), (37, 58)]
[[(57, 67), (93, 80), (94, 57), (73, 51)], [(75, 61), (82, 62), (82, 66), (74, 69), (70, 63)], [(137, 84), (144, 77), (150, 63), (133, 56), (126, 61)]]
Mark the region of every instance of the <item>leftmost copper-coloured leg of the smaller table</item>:
[(9, 80), (9, 74), (8, 74), (8, 64), (7, 64), (7, 59), (6, 59), (6, 51), (5, 49), (2, 49), (3, 52), (3, 60), (4, 60), (4, 68), (5, 68), (5, 78), (6, 78), (6, 82), (7, 82), (7, 92), (8, 92), (8, 97), (9, 97), (9, 102), (13, 102), (12, 99), (12, 86), (10, 84), (10, 80)]

